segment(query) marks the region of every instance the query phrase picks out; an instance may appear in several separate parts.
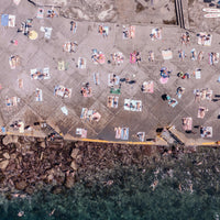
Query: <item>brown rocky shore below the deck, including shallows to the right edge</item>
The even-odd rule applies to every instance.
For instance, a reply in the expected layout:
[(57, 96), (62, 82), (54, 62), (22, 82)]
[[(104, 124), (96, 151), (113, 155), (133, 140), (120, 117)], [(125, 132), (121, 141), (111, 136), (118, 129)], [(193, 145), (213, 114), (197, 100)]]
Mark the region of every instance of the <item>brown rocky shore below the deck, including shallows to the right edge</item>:
[[(204, 148), (201, 148), (205, 151)], [(117, 180), (117, 170), (136, 167), (139, 172), (152, 169), (161, 176), (170, 175), (177, 166), (186, 167), (184, 176), (193, 178), (195, 172), (210, 176), (219, 173), (219, 151), (187, 146), (142, 146), (100, 144), (89, 142), (54, 141), (26, 136), (1, 136), (0, 145), (0, 191), (8, 198), (32, 195), (50, 188), (53, 194), (74, 188), (75, 184), (110, 186)], [(190, 164), (188, 164), (190, 162)], [(213, 173), (215, 169), (215, 173)], [(157, 178), (156, 178), (157, 179)], [(198, 188), (201, 187), (198, 180)], [(186, 185), (188, 183), (186, 182)]]

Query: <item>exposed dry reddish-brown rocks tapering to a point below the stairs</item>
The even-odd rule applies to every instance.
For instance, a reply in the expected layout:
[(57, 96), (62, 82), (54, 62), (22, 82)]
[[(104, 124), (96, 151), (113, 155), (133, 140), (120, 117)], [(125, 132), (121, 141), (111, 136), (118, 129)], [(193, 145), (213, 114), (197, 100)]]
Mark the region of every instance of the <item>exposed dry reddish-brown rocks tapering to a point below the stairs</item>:
[(162, 155), (177, 156), (180, 152), (175, 147), (1, 136), (0, 190), (33, 194), (46, 185), (56, 194), (74, 187), (76, 182), (110, 184), (111, 169), (119, 164), (141, 168), (160, 161)]

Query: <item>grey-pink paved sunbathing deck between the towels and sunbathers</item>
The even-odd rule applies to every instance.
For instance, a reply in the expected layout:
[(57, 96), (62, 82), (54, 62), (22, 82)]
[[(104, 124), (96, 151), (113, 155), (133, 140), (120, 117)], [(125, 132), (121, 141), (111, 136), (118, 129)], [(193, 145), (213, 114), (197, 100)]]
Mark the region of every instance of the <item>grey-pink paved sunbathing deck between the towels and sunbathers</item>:
[[(37, 9), (21, 2), (19, 7), (8, 3), (2, 7), (0, 3), (1, 14), (9, 13), (16, 15), (16, 28), (1, 26), (0, 34), (0, 64), (1, 64), (1, 87), (0, 90), (0, 122), (10, 131), (10, 124), (13, 121), (22, 120), (25, 125), (32, 125), (35, 121), (46, 120), (50, 124), (59, 130), (64, 136), (77, 136), (76, 129), (82, 128), (88, 131), (88, 139), (118, 141), (114, 139), (114, 128), (129, 128), (129, 141), (139, 141), (135, 138), (136, 132), (146, 133), (145, 139), (156, 136), (156, 129), (167, 125), (175, 125), (176, 130), (184, 134), (185, 140), (189, 142), (202, 142), (199, 129), (194, 129), (194, 134), (187, 134), (182, 127), (182, 118), (191, 117), (193, 125), (210, 125), (213, 128), (212, 139), (219, 141), (219, 106), (220, 101), (204, 100), (200, 103), (194, 101), (194, 89), (210, 88), (215, 95), (219, 95), (219, 63), (210, 66), (208, 64), (208, 53), (220, 52), (219, 35), (212, 34), (211, 46), (201, 46), (197, 44), (197, 33), (190, 33), (191, 42), (189, 46), (182, 45), (179, 42), (180, 34), (184, 33), (176, 26), (163, 26), (162, 40), (152, 41), (150, 37), (153, 28), (135, 25), (135, 37), (132, 40), (122, 38), (122, 24), (106, 23), (109, 26), (109, 35), (103, 38), (98, 33), (100, 23), (77, 22), (75, 34), (70, 32), (70, 20), (63, 18), (36, 19), (34, 18), (33, 28), (38, 33), (35, 41), (29, 40), (16, 29), (25, 19), (35, 16)], [(44, 38), (44, 33), (40, 31), (41, 26), (53, 28), (51, 40)], [(202, 30), (201, 30), (202, 31)], [(18, 40), (18, 46), (10, 43), (11, 40)], [(78, 48), (76, 53), (63, 52), (65, 42), (76, 41)], [(96, 65), (91, 61), (91, 50), (97, 48), (106, 55), (106, 63)], [(162, 50), (170, 48), (174, 58), (164, 61)], [(184, 62), (178, 58), (178, 51), (183, 48), (187, 57)], [(202, 62), (190, 59), (190, 51), (196, 48), (205, 52)], [(130, 64), (130, 53), (138, 51), (141, 54), (142, 62), (140, 65)], [(148, 51), (155, 54), (155, 61), (148, 62)], [(122, 52), (124, 62), (121, 65), (108, 64), (110, 54)], [(9, 65), (10, 55), (21, 57), (21, 66), (11, 69)], [(78, 57), (85, 57), (87, 61), (86, 69), (76, 67)], [(67, 70), (58, 70), (58, 61), (65, 61), (69, 64)], [(170, 78), (167, 84), (160, 82), (160, 69), (162, 67), (172, 69)], [(50, 67), (51, 79), (34, 80), (31, 79), (30, 69)], [(196, 68), (201, 69), (201, 79), (191, 77), (190, 79), (180, 79), (177, 77), (178, 72), (193, 73)], [(94, 73), (99, 73), (100, 85), (95, 85)], [(130, 78), (136, 80), (135, 84), (129, 85), (122, 82), (121, 95), (119, 95), (119, 107), (117, 109), (107, 107), (107, 98), (110, 96), (108, 87), (108, 75), (116, 74), (120, 78)], [(18, 79), (23, 79), (23, 89), (18, 86)], [(154, 81), (154, 94), (143, 94), (141, 86), (143, 81)], [(84, 82), (89, 82), (92, 88), (91, 97), (82, 97), (80, 88)], [(55, 97), (54, 87), (63, 85), (72, 88), (70, 98)], [(182, 99), (176, 97), (177, 87), (186, 88)], [(35, 89), (42, 89), (43, 101), (35, 101)], [(178, 100), (175, 108), (168, 107), (167, 101), (162, 99), (163, 94)], [(20, 98), (18, 107), (7, 109), (6, 97), (16, 96)], [(124, 99), (142, 100), (142, 111), (124, 111)], [(68, 116), (65, 116), (61, 108), (66, 107)], [(204, 119), (197, 118), (198, 107), (207, 107)], [(99, 122), (84, 122), (80, 119), (81, 108), (96, 109), (101, 119)]]

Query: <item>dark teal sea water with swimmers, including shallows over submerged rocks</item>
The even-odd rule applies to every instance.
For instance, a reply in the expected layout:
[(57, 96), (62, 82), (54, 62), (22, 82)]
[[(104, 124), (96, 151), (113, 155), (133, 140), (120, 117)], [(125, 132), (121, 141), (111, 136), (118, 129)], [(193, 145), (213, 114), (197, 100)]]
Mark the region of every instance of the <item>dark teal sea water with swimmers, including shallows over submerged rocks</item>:
[(211, 148), (145, 167), (118, 164), (111, 185), (81, 180), (58, 195), (44, 189), (23, 199), (2, 197), (0, 220), (218, 220), (219, 155)]

